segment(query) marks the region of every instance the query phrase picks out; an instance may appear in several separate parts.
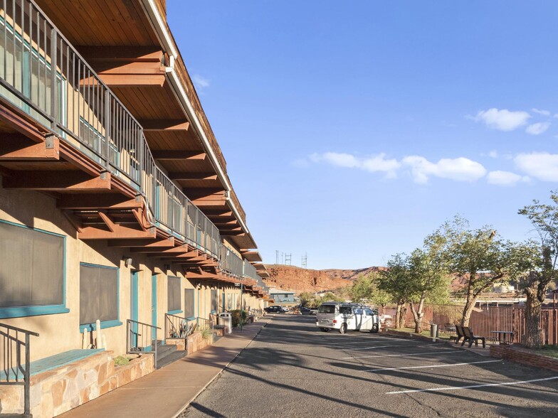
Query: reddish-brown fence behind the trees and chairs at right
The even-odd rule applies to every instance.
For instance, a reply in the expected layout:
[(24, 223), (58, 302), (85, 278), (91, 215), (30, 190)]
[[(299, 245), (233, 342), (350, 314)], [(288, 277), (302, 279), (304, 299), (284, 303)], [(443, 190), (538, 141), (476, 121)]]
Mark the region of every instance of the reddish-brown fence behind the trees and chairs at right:
[[(442, 328), (459, 323), (463, 315), (463, 306), (429, 305), (424, 307), (423, 328), (430, 323), (437, 323)], [(558, 309), (542, 309), (541, 329), (544, 343), (558, 344)], [(414, 327), (414, 318), (410, 309), (405, 318), (406, 326)], [(469, 326), (475, 335), (494, 338), (490, 331), (513, 331), (514, 343), (520, 343), (525, 333), (524, 306), (483, 306), (471, 314)]]

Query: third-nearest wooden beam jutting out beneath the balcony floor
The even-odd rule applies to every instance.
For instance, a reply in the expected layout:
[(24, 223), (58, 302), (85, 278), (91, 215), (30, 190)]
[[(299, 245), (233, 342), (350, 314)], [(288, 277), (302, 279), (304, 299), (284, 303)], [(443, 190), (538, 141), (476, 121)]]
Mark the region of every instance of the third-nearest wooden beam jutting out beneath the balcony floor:
[(87, 193), (63, 195), (56, 200), (56, 208), (73, 210), (142, 208), (142, 198), (130, 199), (118, 193)]

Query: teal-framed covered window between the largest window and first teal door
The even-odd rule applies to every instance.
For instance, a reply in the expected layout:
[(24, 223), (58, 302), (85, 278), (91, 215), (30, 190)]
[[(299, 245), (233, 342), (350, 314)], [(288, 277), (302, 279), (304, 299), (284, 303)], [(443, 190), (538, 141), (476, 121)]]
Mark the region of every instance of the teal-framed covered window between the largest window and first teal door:
[(118, 320), (118, 269), (80, 265), (80, 325)]

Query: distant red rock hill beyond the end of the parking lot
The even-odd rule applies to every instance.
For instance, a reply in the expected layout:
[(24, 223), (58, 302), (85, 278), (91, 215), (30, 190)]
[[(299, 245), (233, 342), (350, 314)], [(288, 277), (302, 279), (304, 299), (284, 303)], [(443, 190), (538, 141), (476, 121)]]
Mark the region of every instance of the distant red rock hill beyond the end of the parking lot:
[(315, 293), (350, 286), (360, 274), (368, 274), (380, 269), (385, 267), (312, 270), (283, 264), (268, 264), (270, 277), (265, 282), (270, 287), (295, 291), (297, 294), (304, 291)]

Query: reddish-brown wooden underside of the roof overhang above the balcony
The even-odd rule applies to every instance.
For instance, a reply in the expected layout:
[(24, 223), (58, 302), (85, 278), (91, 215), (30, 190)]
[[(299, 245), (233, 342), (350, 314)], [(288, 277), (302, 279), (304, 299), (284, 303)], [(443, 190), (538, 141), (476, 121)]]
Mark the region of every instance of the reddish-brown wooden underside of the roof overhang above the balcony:
[[(59, 0), (37, 0), (37, 3), (142, 124), (149, 148), (169, 178), (206, 213), (221, 235), (230, 237), (238, 247), (256, 247), (231, 210), (216, 166), (209, 159), (199, 133), (186, 119), (170, 85), (165, 70), (169, 58), (163, 53), (141, 2), (65, 1), (63, 7)], [(226, 171), (226, 161), (181, 58), (175, 68), (211, 148)], [(234, 191), (229, 198), (246, 223), (246, 215)]]

